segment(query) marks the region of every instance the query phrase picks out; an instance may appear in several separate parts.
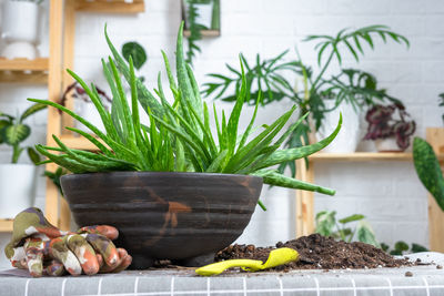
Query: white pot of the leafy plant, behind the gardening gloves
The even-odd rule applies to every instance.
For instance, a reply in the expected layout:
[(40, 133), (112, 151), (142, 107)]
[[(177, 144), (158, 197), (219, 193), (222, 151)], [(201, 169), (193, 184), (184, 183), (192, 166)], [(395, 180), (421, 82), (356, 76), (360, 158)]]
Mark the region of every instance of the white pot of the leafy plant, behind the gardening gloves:
[(34, 204), (36, 165), (0, 164), (0, 218), (13, 218)]

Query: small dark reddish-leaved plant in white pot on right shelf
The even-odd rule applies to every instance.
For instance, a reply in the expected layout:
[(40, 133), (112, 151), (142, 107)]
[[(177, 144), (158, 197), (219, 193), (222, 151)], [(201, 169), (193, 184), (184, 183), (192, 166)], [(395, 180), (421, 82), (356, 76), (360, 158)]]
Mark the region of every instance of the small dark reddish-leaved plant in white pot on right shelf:
[(376, 141), (380, 152), (405, 151), (416, 129), (415, 121), (410, 120), (401, 103), (376, 104), (367, 111), (365, 120), (369, 127), (364, 139)]

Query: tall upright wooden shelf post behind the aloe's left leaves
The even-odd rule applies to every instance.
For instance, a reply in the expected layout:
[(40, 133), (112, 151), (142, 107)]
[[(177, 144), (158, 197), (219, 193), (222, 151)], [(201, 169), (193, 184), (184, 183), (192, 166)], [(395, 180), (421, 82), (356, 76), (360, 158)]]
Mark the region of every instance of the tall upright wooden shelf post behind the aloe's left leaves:
[[(62, 28), (63, 28), (63, 1), (50, 0), (49, 9), (49, 81), (48, 98), (58, 102), (62, 86)], [(56, 108), (48, 110), (47, 143), (53, 144), (52, 134), (60, 135), (61, 115)], [(48, 171), (56, 171), (56, 164), (48, 164)], [(57, 186), (47, 180), (46, 216), (53, 225), (59, 225), (59, 191)]]

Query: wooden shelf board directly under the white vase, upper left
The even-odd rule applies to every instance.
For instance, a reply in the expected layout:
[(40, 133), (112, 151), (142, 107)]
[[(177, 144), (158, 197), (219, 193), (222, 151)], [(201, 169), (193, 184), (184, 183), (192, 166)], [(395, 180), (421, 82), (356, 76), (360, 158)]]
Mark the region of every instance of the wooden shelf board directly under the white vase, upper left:
[(0, 58), (0, 82), (47, 83), (49, 59), (36, 60)]

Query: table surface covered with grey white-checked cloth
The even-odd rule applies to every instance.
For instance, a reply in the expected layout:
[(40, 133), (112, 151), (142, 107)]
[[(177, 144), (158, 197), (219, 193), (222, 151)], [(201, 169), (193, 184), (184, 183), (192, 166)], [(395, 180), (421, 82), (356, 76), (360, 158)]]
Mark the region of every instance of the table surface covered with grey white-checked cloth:
[[(444, 254), (411, 255), (433, 265), (402, 268), (229, 272), (200, 277), (193, 269), (127, 271), (113, 275), (30, 278), (0, 272), (0, 295), (444, 295)], [(412, 276), (405, 273), (411, 272)]]

